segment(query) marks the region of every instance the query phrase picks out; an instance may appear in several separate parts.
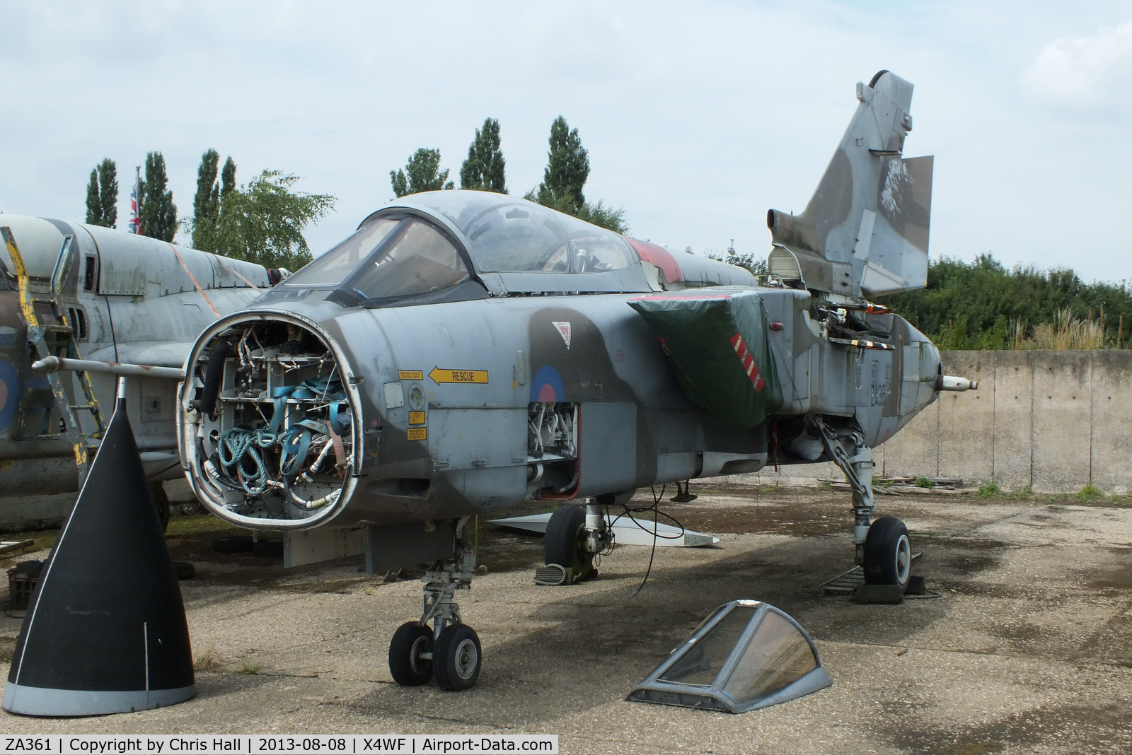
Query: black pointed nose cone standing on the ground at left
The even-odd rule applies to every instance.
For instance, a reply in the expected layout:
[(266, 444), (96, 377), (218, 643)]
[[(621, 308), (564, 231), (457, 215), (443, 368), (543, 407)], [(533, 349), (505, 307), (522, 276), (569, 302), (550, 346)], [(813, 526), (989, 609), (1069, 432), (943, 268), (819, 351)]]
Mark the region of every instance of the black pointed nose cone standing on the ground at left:
[(119, 398), (24, 615), (0, 706), (98, 715), (195, 694), (181, 590)]

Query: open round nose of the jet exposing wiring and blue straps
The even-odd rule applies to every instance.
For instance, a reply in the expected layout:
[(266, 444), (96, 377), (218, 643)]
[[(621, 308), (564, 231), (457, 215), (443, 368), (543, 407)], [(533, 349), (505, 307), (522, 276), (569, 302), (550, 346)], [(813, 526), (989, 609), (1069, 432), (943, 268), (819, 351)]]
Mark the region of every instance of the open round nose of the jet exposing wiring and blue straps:
[(217, 321), (194, 346), (179, 397), (197, 497), (240, 527), (326, 523), (357, 485), (361, 406), (341, 345), (318, 323), (268, 311)]

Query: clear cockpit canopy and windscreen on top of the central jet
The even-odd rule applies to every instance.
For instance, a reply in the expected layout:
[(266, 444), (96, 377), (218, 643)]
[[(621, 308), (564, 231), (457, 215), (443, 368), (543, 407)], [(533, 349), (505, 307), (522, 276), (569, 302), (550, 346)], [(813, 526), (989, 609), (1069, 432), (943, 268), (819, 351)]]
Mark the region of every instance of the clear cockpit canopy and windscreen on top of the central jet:
[[(688, 257), (677, 264), (654, 244), (524, 199), (431, 191), (374, 212), (268, 296), (333, 289), (327, 301), (389, 306), (515, 293), (646, 293), (677, 281), (753, 283), (743, 270)], [(705, 264), (702, 281), (681, 275), (683, 267), (700, 272)], [(735, 275), (746, 279), (729, 279)]]

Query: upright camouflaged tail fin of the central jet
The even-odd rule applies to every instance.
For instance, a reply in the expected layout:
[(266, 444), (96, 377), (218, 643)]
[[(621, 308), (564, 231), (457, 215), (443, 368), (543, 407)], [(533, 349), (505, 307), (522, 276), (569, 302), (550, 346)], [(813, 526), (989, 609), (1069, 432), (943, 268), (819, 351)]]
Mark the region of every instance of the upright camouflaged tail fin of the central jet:
[(767, 212), (771, 272), (807, 288), (875, 296), (927, 285), (933, 158), (902, 157), (912, 85), (889, 71), (860, 104), (806, 209)]

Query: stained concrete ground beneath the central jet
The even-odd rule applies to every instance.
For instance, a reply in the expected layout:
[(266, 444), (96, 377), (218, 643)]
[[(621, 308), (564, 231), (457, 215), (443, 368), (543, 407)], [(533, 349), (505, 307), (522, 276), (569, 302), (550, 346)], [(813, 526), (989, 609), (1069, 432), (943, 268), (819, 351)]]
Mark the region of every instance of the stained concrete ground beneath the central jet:
[[(539, 588), (540, 538), (484, 526), (488, 574), (460, 596), (483, 670), (463, 693), (389, 677), (388, 641), (418, 615), (419, 582), (375, 579), (360, 558), (284, 572), (277, 558), (214, 553), (228, 533), (215, 519), (175, 519), (173, 557), (197, 569), (181, 583), (196, 698), (87, 719), (0, 714), (0, 731), (530, 731), (559, 735), (563, 753), (619, 754), (1132, 752), (1129, 501), (883, 496), (881, 513), (903, 519), (924, 553), (914, 573), (941, 597), (859, 606), (818, 589), (851, 566), (848, 494), (693, 492), (666, 510), (722, 541), (658, 548), (635, 597), (649, 548), (618, 548), (595, 581)], [(741, 715), (624, 702), (735, 598), (797, 618), (833, 686)], [(20, 617), (0, 617), (5, 675)]]

